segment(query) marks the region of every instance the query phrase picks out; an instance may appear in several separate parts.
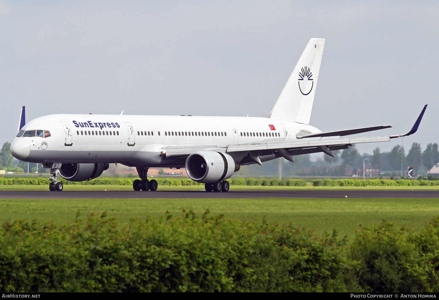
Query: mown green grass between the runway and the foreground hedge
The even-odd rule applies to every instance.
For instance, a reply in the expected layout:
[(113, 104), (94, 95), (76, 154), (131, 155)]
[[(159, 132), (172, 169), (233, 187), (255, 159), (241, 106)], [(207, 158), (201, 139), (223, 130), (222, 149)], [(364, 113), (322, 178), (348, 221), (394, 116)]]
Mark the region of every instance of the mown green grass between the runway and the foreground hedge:
[(378, 225), (383, 219), (419, 231), (439, 215), (438, 204), (439, 198), (3, 199), (0, 221), (37, 218), (62, 224), (72, 221), (80, 210), (83, 216), (108, 211), (109, 216), (127, 222), (132, 217), (160, 216), (166, 211), (180, 216), (182, 207), (201, 215), (209, 208), (211, 213), (224, 213), (228, 218), (260, 221), (265, 216), (267, 221), (304, 226), (319, 234), (335, 228), (340, 235), (352, 238), (360, 224)]

